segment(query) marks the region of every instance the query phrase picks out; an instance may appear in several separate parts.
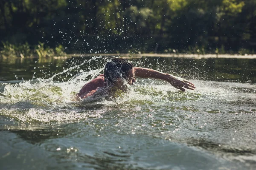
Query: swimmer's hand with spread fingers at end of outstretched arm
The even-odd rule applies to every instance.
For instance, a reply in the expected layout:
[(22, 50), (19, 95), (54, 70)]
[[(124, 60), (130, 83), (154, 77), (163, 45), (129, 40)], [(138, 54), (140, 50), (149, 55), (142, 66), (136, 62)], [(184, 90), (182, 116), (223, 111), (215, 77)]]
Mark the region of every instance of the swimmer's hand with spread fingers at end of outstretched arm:
[(173, 87), (180, 89), (181, 91), (185, 91), (185, 88), (190, 90), (195, 89), (195, 85), (186, 79), (172, 76), (171, 74), (166, 74), (166, 76), (167, 76), (166, 81), (168, 81), (169, 83), (171, 83)]

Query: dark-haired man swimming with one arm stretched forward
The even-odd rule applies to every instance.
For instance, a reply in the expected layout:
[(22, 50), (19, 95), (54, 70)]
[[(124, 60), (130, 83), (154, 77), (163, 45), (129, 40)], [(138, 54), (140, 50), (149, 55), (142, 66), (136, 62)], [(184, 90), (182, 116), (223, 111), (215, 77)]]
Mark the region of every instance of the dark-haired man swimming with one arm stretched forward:
[(128, 59), (113, 58), (107, 62), (104, 74), (86, 83), (76, 94), (79, 99), (84, 99), (95, 94), (99, 88), (118, 88), (125, 90), (125, 86), (132, 85), (135, 77), (162, 79), (169, 82), (173, 87), (185, 91), (185, 88), (194, 90), (195, 85), (186, 79), (175, 77), (171, 74), (162, 73), (150, 68), (134, 67)]

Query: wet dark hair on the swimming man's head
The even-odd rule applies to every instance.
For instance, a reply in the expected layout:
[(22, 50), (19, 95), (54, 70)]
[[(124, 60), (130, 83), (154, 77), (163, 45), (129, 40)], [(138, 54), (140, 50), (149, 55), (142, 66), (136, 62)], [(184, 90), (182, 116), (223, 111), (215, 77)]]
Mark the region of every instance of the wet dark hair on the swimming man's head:
[(134, 65), (128, 59), (113, 58), (107, 62), (104, 69), (105, 82), (114, 83), (118, 78), (128, 80), (129, 71)]

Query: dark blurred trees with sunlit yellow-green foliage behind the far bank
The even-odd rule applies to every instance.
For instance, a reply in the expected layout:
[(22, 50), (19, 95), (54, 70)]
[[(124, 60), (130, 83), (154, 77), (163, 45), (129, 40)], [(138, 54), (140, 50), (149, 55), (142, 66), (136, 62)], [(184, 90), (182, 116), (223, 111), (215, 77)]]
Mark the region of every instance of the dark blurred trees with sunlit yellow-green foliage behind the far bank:
[(0, 41), (70, 54), (254, 54), (256, 0), (0, 0)]

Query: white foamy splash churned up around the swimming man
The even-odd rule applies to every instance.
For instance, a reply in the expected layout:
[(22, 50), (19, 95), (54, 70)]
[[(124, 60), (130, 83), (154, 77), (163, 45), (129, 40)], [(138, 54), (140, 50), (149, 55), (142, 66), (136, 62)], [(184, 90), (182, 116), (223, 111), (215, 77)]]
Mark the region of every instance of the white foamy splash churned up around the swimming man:
[[(126, 93), (120, 91), (109, 95), (107, 90), (103, 89), (104, 93), (99, 91), (94, 97), (78, 102), (75, 100), (75, 95), (80, 88), (103, 71), (103, 67), (90, 71), (84, 71), (81, 68), (85, 65), (89, 67), (90, 62), (98, 58), (96, 56), (87, 61), (84, 60), (81, 64), (64, 69), (48, 79), (36, 78), (16, 84), (1, 83), (3, 91), (0, 94), (2, 103), (0, 115), (22, 122), (77, 122), (86, 120), (90, 116), (101, 116), (111, 107), (122, 103), (143, 104), (160, 102), (160, 100), (170, 102), (170, 99), (173, 101), (173, 97), (180, 97), (180, 95), (185, 100), (194, 99), (194, 96), (198, 98), (198, 94), (181, 94), (168, 84), (154, 86), (148, 85), (148, 83), (154, 84), (152, 80), (143, 80)], [(54, 81), (61, 75), (67, 77), (73, 70), (78, 74), (68, 81)]]

